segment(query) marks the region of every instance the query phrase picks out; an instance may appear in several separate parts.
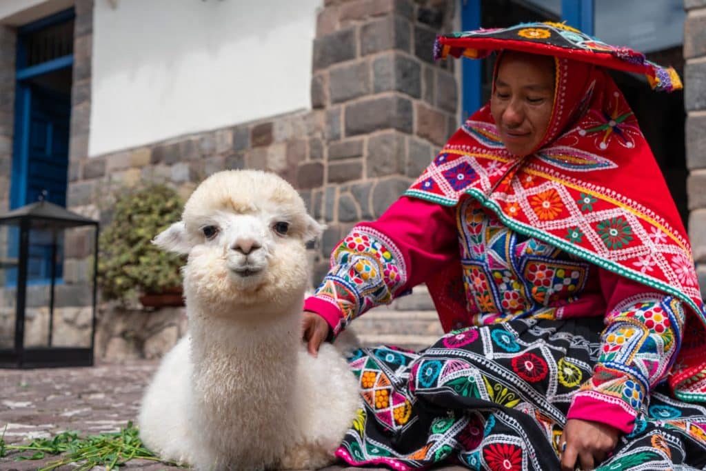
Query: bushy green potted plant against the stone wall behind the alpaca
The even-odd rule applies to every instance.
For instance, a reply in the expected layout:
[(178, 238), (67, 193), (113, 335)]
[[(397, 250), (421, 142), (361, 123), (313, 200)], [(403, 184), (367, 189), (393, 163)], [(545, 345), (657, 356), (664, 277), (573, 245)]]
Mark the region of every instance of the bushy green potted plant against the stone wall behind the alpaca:
[(104, 300), (143, 306), (183, 306), (181, 257), (152, 239), (181, 218), (184, 201), (165, 184), (145, 183), (122, 191), (112, 221), (100, 234), (98, 285)]

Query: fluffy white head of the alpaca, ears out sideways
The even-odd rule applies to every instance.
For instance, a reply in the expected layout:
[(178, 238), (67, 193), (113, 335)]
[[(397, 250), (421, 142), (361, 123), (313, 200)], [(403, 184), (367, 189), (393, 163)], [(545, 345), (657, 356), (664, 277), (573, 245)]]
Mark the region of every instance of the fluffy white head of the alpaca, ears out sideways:
[(155, 238), (188, 254), (184, 292), (210, 315), (244, 304), (285, 305), (308, 280), (305, 243), (321, 226), (291, 185), (275, 174), (226, 170), (205, 179), (186, 202), (181, 221)]

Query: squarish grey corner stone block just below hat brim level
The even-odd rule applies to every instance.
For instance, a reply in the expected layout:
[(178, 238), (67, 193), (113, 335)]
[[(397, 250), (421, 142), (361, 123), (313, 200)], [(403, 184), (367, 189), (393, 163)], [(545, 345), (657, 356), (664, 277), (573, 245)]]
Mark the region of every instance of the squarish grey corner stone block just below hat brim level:
[(421, 66), (400, 54), (385, 54), (373, 61), (375, 93), (395, 90), (415, 98), (421, 97)]

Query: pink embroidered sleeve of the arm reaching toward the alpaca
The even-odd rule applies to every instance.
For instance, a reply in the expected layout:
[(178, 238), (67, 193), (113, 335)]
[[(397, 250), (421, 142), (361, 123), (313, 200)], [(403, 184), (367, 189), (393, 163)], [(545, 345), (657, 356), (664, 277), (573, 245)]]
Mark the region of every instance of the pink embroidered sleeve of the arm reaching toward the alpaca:
[(338, 244), (304, 309), (325, 318), (337, 335), (352, 319), (389, 304), (457, 257), (455, 208), (402, 196)]

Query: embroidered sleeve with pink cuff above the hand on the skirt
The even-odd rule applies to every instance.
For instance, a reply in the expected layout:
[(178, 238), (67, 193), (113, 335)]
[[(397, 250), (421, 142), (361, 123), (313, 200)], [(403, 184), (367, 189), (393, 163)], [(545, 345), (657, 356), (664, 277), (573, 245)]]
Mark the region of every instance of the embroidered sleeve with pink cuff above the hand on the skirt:
[(676, 358), (685, 311), (669, 294), (607, 270), (600, 269), (599, 276), (606, 328), (594, 374), (575, 394), (567, 418), (603, 422), (630, 433), (646, 396)]

